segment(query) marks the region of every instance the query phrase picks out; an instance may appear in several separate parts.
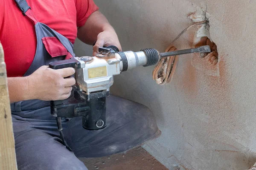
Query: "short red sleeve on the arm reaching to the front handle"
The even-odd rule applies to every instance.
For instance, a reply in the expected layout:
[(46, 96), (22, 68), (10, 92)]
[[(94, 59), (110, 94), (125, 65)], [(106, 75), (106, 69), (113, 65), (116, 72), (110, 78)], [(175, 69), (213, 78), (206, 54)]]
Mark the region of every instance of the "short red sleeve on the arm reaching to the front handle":
[(76, 26), (84, 26), (88, 17), (97, 10), (99, 7), (93, 0), (76, 0)]

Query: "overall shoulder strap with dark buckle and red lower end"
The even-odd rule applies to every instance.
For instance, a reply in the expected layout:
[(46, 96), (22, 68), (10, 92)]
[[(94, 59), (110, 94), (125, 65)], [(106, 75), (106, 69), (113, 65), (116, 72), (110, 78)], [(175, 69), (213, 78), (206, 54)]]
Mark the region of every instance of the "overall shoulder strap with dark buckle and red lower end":
[(38, 23), (38, 20), (35, 18), (34, 13), (32, 12), (26, 0), (14, 0), (14, 1), (17, 4), (18, 8), (20, 8), (20, 11), (24, 16), (27, 16), (34, 23), (34, 25)]

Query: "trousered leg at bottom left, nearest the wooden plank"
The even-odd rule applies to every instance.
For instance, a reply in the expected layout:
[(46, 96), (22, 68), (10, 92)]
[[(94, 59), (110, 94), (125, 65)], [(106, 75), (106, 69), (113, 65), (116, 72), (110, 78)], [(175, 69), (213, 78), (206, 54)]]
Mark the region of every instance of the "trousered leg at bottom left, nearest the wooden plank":
[(15, 118), (13, 127), (18, 170), (87, 170), (57, 136)]

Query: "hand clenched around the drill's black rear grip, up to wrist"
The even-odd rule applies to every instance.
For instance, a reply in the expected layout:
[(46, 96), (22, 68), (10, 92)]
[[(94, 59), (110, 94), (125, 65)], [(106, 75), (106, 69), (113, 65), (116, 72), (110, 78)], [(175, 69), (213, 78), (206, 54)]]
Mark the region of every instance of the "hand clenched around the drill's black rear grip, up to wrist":
[[(62, 68), (54, 70), (44, 65), (27, 77), (29, 93), (34, 99), (63, 100), (67, 99), (72, 91), (72, 85), (76, 83), (74, 68)], [(68, 77), (68, 78), (65, 78)]]

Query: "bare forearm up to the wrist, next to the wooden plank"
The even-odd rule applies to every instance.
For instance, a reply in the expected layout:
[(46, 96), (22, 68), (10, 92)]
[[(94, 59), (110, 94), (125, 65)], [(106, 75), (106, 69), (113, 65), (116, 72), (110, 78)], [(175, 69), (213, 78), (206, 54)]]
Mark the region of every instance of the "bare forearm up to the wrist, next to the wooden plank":
[(8, 90), (10, 102), (32, 99), (29, 93), (28, 80), (26, 77), (9, 77)]

